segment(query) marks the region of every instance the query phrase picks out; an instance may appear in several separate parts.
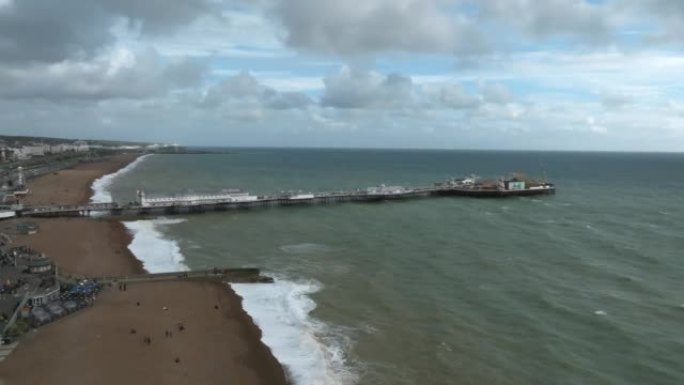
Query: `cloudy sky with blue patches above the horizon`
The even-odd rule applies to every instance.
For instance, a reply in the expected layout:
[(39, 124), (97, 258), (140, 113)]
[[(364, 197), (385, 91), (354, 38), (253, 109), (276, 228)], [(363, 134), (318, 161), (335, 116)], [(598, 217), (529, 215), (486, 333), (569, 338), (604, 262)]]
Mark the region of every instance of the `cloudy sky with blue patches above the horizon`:
[(0, 0), (0, 133), (684, 150), (680, 0)]

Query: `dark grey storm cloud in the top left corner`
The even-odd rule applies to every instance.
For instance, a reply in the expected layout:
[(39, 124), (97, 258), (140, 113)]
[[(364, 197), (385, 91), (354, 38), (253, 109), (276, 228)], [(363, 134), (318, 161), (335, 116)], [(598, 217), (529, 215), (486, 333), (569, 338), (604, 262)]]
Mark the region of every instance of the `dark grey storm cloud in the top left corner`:
[(0, 12), (0, 62), (90, 56), (124, 18), (142, 33), (168, 33), (213, 8), (208, 0), (18, 0)]

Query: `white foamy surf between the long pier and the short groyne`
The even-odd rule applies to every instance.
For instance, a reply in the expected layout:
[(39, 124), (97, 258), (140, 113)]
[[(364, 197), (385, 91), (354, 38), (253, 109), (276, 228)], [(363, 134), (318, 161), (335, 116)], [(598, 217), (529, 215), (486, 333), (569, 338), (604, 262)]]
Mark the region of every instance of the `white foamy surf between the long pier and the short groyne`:
[(133, 241), (128, 249), (142, 262), (150, 273), (188, 270), (185, 257), (181, 253), (178, 242), (164, 237), (161, 226), (175, 225), (185, 219), (150, 219), (123, 222), (132, 233)]

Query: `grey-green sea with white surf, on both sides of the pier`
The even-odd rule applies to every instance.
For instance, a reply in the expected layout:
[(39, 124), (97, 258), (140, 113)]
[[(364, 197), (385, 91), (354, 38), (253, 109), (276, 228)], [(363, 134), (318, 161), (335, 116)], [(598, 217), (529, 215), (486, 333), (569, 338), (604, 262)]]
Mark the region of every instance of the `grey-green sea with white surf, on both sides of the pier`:
[(125, 222), (148, 271), (273, 276), (233, 289), (296, 385), (684, 384), (684, 154), (214, 150), (139, 158), (95, 199), (510, 172), (557, 187)]

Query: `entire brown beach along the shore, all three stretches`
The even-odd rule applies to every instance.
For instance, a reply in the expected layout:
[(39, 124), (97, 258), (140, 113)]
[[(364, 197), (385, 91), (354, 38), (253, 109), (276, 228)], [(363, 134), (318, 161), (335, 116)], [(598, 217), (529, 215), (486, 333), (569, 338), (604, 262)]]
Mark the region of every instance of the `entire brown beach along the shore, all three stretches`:
[[(122, 155), (81, 164), (30, 182), (31, 204), (82, 203), (92, 182), (129, 164)], [(34, 221), (34, 220), (31, 220)], [(51, 257), (64, 274), (143, 273), (128, 250), (131, 235), (98, 218), (35, 220), (38, 234), (15, 236)], [(17, 221), (4, 222), (3, 227)], [(139, 305), (138, 305), (139, 304)], [(183, 330), (179, 330), (179, 324)], [(167, 336), (167, 332), (171, 335)], [(151, 343), (143, 342), (149, 337)], [(30, 331), (0, 363), (4, 384), (286, 384), (285, 371), (261, 342), (241, 298), (212, 280), (107, 287), (95, 305)]]

